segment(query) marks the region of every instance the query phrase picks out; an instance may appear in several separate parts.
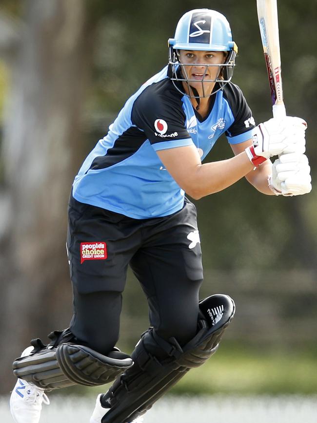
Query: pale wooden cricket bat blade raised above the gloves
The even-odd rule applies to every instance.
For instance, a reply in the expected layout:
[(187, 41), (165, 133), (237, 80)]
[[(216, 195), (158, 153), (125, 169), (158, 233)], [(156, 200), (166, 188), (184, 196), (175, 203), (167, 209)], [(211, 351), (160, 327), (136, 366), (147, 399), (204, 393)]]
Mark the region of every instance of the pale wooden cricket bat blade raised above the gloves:
[(258, 23), (269, 77), (273, 116), (285, 116), (278, 33), (277, 0), (257, 0)]

